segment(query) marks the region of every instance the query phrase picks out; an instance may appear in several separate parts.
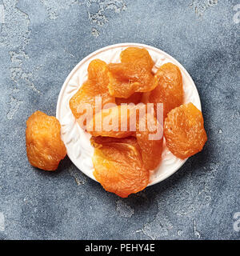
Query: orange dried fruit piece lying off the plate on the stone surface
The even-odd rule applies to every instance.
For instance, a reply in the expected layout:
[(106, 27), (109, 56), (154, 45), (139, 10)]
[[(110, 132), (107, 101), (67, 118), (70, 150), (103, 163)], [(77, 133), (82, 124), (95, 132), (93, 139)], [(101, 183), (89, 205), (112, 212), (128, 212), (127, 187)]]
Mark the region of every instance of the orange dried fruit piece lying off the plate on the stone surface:
[(26, 121), (26, 154), (32, 166), (42, 170), (56, 170), (66, 157), (61, 139), (61, 125), (57, 118), (37, 111)]

